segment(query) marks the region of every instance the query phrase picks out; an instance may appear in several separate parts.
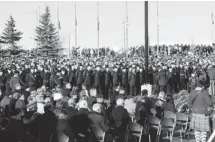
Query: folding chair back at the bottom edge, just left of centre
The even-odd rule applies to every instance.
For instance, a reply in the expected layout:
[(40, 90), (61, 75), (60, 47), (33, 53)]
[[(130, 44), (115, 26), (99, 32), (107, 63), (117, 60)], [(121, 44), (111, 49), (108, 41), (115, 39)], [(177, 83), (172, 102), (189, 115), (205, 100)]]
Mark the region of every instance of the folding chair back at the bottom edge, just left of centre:
[(90, 130), (91, 130), (91, 137), (90, 137), (91, 142), (105, 142), (105, 131), (95, 127), (92, 127)]

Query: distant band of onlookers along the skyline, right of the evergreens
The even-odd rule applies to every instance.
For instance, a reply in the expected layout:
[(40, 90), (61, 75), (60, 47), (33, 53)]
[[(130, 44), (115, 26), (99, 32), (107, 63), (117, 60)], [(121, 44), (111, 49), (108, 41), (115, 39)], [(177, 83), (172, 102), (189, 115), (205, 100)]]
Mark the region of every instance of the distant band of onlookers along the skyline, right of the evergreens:
[[(98, 57), (98, 56), (111, 56), (115, 57), (119, 54), (124, 53), (123, 55), (133, 57), (133, 56), (143, 56), (144, 55), (144, 46), (136, 46), (136, 47), (129, 47), (126, 48), (119, 48), (114, 49), (110, 47), (102, 47), (102, 48), (80, 48), (80, 47), (73, 47), (71, 49), (72, 56), (82, 56), (82, 57)], [(166, 54), (166, 55), (173, 55), (173, 54), (188, 54), (190, 51), (194, 52), (195, 54), (202, 55), (202, 54), (211, 54), (213, 52), (213, 46), (211, 45), (191, 45), (191, 44), (174, 44), (174, 45), (159, 45), (158, 53), (159, 54)], [(157, 54), (157, 45), (149, 46), (149, 54), (155, 55)]]

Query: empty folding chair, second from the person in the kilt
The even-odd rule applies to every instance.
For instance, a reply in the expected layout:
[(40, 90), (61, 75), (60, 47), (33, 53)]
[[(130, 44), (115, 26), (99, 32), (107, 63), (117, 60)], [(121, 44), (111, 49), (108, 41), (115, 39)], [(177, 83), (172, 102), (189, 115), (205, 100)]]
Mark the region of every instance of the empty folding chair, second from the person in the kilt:
[(168, 138), (168, 134), (170, 133), (170, 142), (172, 142), (172, 139), (173, 139), (173, 133), (174, 133), (175, 125), (176, 124), (175, 124), (174, 119), (165, 118), (165, 117), (161, 119), (160, 134), (162, 131), (165, 131), (165, 132), (167, 132), (167, 138)]

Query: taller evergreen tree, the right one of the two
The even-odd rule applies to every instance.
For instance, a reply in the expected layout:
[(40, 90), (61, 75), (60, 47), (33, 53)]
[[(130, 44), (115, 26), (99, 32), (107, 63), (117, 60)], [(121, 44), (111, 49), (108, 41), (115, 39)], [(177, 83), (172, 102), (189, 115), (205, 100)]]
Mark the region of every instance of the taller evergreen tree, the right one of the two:
[(51, 22), (49, 7), (46, 7), (45, 13), (40, 17), (40, 25), (36, 27), (35, 40), (38, 42), (39, 52), (57, 55), (61, 49), (58, 32)]

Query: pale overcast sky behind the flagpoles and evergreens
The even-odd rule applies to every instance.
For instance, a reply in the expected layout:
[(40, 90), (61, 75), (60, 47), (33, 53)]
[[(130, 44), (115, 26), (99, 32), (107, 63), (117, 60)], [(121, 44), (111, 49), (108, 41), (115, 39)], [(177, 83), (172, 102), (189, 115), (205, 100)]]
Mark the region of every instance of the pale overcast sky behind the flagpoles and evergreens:
[[(57, 2), (0, 2), (0, 32), (11, 14), (23, 38), (19, 42), (24, 48), (34, 47), (34, 30), (37, 13), (44, 13), (49, 6), (52, 20), (57, 26)], [(96, 2), (77, 2), (78, 45), (97, 47)], [(99, 2), (100, 45), (123, 46), (125, 2)], [(40, 8), (39, 8), (40, 7)], [(215, 16), (215, 2), (159, 2), (160, 43), (203, 43), (212, 41), (211, 12)], [(215, 17), (214, 17), (215, 18)], [(144, 2), (128, 2), (129, 46), (144, 44)], [(74, 46), (74, 2), (59, 2), (60, 36), (64, 48)], [(157, 42), (157, 2), (149, 2), (150, 44)]]

